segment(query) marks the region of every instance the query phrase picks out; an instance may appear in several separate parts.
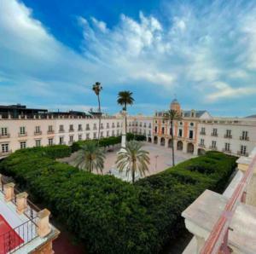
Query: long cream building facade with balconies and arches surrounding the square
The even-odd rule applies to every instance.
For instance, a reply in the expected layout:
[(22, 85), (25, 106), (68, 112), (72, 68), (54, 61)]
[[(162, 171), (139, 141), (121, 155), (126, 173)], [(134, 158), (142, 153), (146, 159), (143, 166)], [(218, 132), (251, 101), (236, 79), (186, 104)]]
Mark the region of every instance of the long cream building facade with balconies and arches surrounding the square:
[[(21, 108), (20, 108), (21, 107)], [(256, 118), (214, 118), (206, 110), (183, 111), (177, 100), (170, 108), (179, 113), (173, 121), (176, 150), (195, 155), (217, 150), (247, 156), (256, 145)], [(122, 116), (102, 116), (101, 137), (119, 136)], [(148, 142), (172, 147), (172, 130), (165, 112), (152, 117), (128, 116), (127, 131), (146, 136)], [(96, 139), (98, 119), (93, 115), (69, 112), (49, 113), (24, 106), (0, 107), (0, 158), (26, 147), (71, 145), (73, 141)]]

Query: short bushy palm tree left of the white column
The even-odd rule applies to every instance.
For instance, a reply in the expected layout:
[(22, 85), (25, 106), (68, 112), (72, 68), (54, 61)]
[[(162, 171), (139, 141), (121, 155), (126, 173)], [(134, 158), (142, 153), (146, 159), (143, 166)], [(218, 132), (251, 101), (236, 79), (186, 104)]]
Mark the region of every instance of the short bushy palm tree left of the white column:
[(104, 159), (106, 158), (102, 148), (98, 147), (95, 141), (89, 141), (78, 152), (76, 159), (72, 165), (79, 167), (81, 170), (93, 172), (99, 170), (102, 173), (104, 168)]

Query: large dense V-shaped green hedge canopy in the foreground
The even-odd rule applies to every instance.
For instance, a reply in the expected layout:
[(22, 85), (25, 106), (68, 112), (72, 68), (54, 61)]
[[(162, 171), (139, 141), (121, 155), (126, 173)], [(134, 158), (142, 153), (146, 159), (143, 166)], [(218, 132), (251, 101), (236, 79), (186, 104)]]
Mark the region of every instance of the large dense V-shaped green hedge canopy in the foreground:
[(181, 212), (206, 188), (222, 191), (236, 167), (235, 157), (208, 152), (132, 185), (56, 162), (55, 151), (17, 151), (0, 171), (44, 202), (88, 253), (159, 253), (184, 228)]

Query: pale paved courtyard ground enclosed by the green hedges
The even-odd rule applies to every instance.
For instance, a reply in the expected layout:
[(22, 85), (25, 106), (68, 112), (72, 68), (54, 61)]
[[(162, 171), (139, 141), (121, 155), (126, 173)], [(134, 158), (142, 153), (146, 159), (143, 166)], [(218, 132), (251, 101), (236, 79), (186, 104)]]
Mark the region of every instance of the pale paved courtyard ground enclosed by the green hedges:
[[(119, 152), (120, 146), (115, 146), (113, 149), (106, 148), (106, 159), (104, 163), (103, 174), (108, 174), (109, 170), (115, 168), (115, 161), (117, 159), (117, 152)], [(150, 164), (148, 165), (148, 172), (146, 176), (154, 175), (160, 171), (166, 170), (172, 167), (172, 148), (161, 147), (149, 142), (143, 142), (143, 150), (148, 151), (150, 158)], [(77, 153), (73, 153), (70, 157), (58, 159), (61, 162), (71, 164), (76, 158)], [(195, 155), (191, 153), (183, 153), (182, 151), (175, 150), (175, 164), (183, 162), (187, 159), (191, 159)]]

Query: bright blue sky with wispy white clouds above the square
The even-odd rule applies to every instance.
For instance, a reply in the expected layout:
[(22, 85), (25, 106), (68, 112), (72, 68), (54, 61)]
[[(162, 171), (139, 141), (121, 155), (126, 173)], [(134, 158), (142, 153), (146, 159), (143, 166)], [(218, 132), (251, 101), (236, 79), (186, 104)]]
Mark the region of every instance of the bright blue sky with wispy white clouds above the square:
[(1, 0), (0, 104), (50, 110), (102, 106), (152, 114), (184, 109), (256, 113), (256, 2)]

